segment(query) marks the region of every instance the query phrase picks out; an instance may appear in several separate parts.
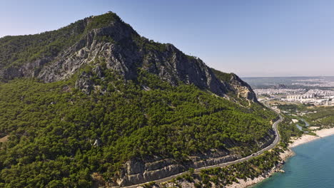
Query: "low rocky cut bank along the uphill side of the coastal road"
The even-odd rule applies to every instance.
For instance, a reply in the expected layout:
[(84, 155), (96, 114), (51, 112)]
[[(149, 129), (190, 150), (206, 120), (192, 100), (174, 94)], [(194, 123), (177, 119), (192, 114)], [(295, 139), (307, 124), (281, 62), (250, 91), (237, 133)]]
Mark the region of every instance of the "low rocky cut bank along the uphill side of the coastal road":
[[(263, 137), (257, 144), (260, 148), (265, 148), (273, 140), (275, 140), (275, 136), (272, 134)], [(131, 160), (126, 162), (123, 169), (121, 169), (121, 174), (116, 182), (121, 187), (141, 184), (164, 177), (171, 177), (175, 174), (186, 172), (189, 168), (209, 167), (241, 158), (241, 155), (233, 154), (227, 150), (211, 150), (205, 154), (193, 155), (189, 157), (190, 161), (183, 163), (176, 160), (158, 158), (146, 161)]]

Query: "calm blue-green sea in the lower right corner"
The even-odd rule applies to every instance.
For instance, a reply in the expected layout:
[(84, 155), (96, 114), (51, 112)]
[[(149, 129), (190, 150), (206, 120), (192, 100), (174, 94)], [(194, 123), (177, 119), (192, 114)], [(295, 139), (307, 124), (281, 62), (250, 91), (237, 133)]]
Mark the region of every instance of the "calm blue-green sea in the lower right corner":
[(334, 136), (294, 147), (283, 169), (253, 188), (333, 188), (334, 187)]

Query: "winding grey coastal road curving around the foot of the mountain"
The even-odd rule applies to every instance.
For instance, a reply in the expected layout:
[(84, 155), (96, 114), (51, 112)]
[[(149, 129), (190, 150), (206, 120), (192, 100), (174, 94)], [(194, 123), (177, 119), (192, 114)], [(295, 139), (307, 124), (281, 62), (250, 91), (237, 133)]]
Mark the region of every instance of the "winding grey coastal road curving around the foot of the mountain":
[[(208, 167), (201, 167), (201, 168), (195, 169), (194, 172), (201, 172), (202, 169), (210, 169), (210, 168), (214, 168), (214, 167), (226, 167), (226, 166), (231, 165), (231, 164), (237, 164), (239, 162), (245, 162), (247, 160), (253, 159), (253, 157), (256, 157), (258, 155), (263, 154), (263, 152), (265, 152), (265, 151), (273, 149), (273, 147), (278, 145), (278, 143), (280, 142), (280, 134), (278, 132), (278, 124), (283, 121), (283, 117), (281, 115), (279, 115), (279, 116), (280, 116), (280, 119), (273, 123), (273, 130), (275, 132), (275, 140), (273, 141), (273, 143), (268, 145), (268, 147), (265, 147), (262, 150), (260, 150), (258, 152), (255, 152), (252, 155), (249, 155), (247, 157), (243, 157), (239, 160), (234, 160), (234, 161), (231, 161), (231, 162), (224, 162), (224, 163), (221, 163), (221, 164), (216, 164), (216, 165), (208, 166)], [(175, 175), (170, 176), (170, 177), (165, 177), (165, 178), (162, 178), (162, 179), (156, 179), (153, 182), (156, 182), (156, 183), (168, 182), (169, 180), (171, 180), (173, 178), (176, 178), (178, 176), (181, 176), (183, 174), (186, 174), (186, 173), (187, 172), (181, 172), (180, 174), (175, 174)], [(149, 183), (149, 182), (145, 182), (145, 183), (141, 183), (141, 184), (146, 184), (146, 183)], [(141, 184), (134, 184), (134, 185), (128, 186), (126, 188), (136, 188), (136, 187), (139, 187)]]

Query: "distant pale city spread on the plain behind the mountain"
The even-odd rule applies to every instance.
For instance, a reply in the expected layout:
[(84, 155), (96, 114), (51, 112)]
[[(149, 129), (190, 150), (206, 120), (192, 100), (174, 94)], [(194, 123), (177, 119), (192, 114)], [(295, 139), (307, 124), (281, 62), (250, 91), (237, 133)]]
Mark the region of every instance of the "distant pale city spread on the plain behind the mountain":
[(334, 105), (333, 77), (243, 78), (243, 80), (251, 84), (259, 100), (275, 98), (288, 103)]

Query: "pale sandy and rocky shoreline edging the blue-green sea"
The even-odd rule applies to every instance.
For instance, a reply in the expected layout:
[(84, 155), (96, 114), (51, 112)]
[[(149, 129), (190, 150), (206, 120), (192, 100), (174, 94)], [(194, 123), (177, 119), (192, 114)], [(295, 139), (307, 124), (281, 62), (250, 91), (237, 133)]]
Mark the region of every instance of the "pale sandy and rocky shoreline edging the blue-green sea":
[[(298, 145), (303, 145), (308, 142), (313, 142), (314, 140), (318, 140), (322, 137), (328, 137), (334, 135), (334, 127), (323, 130), (317, 130), (315, 131), (315, 134), (318, 136), (302, 135), (301, 137), (298, 138), (291, 138), (292, 143), (289, 144), (288, 150), (285, 150), (284, 152), (280, 153), (280, 159), (281, 159), (280, 163), (284, 164), (285, 160), (295, 155), (295, 152), (291, 150), (293, 147), (297, 147)], [(254, 179), (248, 178), (246, 181), (244, 179), (238, 179), (239, 181), (238, 183), (233, 182), (233, 184), (226, 186), (226, 188), (251, 187), (255, 184), (262, 182), (264, 179), (271, 177), (275, 172), (280, 172), (280, 166), (273, 167), (273, 169), (270, 169), (268, 172), (264, 172), (261, 176), (255, 177)]]

